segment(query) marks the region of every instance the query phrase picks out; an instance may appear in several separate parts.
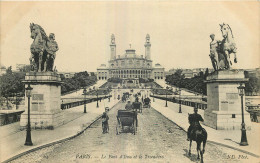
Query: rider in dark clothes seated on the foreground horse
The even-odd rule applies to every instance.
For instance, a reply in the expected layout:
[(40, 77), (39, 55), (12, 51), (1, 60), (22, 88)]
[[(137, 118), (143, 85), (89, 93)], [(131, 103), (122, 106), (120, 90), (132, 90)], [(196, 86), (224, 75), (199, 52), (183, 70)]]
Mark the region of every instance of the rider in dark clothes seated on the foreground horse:
[(200, 125), (199, 121), (204, 122), (201, 115), (198, 114), (198, 108), (194, 107), (194, 113), (189, 115), (190, 126), (189, 126), (188, 132), (187, 132), (187, 141), (190, 141), (191, 131), (194, 128), (194, 125), (196, 124), (196, 122), (199, 124), (200, 129), (202, 129), (202, 126)]

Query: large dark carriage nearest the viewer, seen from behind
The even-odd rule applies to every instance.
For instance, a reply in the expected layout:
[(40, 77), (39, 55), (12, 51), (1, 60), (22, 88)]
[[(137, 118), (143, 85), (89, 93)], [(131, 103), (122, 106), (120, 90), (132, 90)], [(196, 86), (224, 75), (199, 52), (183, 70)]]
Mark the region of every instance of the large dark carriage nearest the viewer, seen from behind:
[(117, 112), (116, 134), (118, 135), (128, 127), (135, 135), (137, 131), (137, 112), (128, 110), (118, 110)]

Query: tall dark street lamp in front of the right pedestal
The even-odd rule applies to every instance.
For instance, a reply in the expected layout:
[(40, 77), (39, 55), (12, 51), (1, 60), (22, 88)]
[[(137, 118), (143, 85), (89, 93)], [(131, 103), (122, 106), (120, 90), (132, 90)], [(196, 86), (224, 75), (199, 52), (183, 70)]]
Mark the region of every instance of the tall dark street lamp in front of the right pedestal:
[(237, 87), (238, 93), (241, 96), (241, 110), (242, 110), (242, 129), (241, 129), (241, 146), (247, 146), (247, 138), (246, 138), (246, 128), (245, 128), (245, 122), (244, 122), (244, 107), (243, 107), (243, 96), (244, 96), (244, 89), (245, 87), (240, 83), (240, 86)]

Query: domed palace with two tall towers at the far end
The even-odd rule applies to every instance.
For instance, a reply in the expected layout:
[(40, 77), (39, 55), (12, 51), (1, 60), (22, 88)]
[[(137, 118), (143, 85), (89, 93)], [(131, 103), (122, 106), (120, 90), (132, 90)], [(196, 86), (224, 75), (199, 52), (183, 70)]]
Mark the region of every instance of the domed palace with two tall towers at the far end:
[(164, 67), (160, 64), (153, 66), (151, 60), (151, 43), (149, 34), (146, 35), (144, 44), (145, 56), (137, 55), (135, 49), (126, 49), (125, 54), (116, 56), (115, 36), (111, 36), (110, 60), (108, 66), (101, 64), (97, 68), (98, 80), (107, 80), (109, 78), (120, 78), (123, 82), (133, 81), (137, 83), (139, 78), (164, 80)]

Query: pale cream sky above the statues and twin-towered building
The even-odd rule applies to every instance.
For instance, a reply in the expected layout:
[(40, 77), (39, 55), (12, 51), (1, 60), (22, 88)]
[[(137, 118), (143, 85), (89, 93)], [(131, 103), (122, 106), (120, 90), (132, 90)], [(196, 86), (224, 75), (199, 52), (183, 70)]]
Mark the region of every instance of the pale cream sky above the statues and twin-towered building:
[[(58, 71), (96, 71), (110, 58), (111, 34), (117, 55), (131, 47), (145, 55), (150, 34), (153, 64), (171, 68), (212, 68), (209, 35), (230, 25), (237, 45), (233, 68), (256, 68), (260, 62), (259, 2), (105, 1), (0, 2), (0, 64), (29, 64), (30, 23), (55, 33)], [(231, 56), (233, 60), (233, 55)]]

